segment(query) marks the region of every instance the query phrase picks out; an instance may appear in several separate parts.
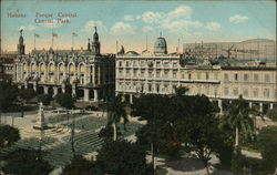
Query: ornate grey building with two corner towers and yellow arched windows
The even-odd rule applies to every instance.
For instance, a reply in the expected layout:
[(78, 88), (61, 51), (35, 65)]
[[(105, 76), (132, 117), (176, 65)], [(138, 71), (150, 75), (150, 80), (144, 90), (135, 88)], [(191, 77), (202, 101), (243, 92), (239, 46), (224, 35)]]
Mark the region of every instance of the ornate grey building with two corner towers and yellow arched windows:
[(33, 51), (24, 54), (22, 32), (14, 61), (13, 81), (39, 93), (72, 93), (84, 101), (107, 100), (114, 94), (114, 55), (101, 54), (95, 30), (88, 50)]

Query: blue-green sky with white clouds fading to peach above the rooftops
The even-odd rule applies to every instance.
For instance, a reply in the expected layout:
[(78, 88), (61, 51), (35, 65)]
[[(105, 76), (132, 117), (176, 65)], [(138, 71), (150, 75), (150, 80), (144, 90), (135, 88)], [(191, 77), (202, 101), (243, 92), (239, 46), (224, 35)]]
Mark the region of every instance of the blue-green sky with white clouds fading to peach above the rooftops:
[[(9, 14), (21, 14), (13, 18)], [(73, 17), (59, 17), (73, 14)], [(45, 17), (51, 16), (52, 17)], [(44, 16), (44, 17), (42, 17)], [(51, 20), (43, 23), (42, 20)], [(68, 21), (59, 23), (58, 19)], [(49, 49), (86, 48), (94, 28), (102, 53), (114, 53), (116, 40), (126, 51), (153, 51), (160, 33), (170, 52), (179, 43), (239, 42), (265, 38), (276, 40), (276, 2), (273, 1), (1, 1), (2, 50), (16, 51), (23, 29), (27, 52)], [(72, 33), (76, 33), (73, 37)], [(147, 35), (147, 37), (146, 37)]]

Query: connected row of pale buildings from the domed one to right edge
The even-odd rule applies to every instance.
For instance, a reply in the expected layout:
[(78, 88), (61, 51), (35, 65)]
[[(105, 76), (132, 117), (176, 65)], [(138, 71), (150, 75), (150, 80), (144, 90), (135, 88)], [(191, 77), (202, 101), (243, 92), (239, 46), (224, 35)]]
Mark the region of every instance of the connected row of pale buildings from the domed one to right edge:
[(189, 95), (205, 94), (223, 111), (240, 94), (249, 105), (259, 104), (264, 113), (276, 104), (276, 68), (188, 64), (184, 58), (184, 54), (168, 54), (162, 37), (155, 42), (154, 53), (119, 52), (115, 93), (132, 103), (142, 93), (173, 94), (176, 86), (186, 86)]

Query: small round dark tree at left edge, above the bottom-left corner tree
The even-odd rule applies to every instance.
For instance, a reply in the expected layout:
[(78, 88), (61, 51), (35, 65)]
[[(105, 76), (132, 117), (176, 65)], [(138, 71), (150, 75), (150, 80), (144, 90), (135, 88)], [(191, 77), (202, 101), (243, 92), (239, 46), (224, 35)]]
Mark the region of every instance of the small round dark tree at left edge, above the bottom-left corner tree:
[(19, 130), (10, 125), (0, 125), (0, 147), (13, 145), (20, 140)]

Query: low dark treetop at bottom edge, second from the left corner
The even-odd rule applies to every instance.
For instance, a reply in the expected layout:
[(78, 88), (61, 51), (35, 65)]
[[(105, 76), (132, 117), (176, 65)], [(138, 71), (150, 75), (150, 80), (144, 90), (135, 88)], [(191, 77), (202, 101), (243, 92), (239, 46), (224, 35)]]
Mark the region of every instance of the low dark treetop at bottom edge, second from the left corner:
[(71, 159), (63, 169), (61, 175), (104, 175), (101, 168), (93, 161), (88, 161), (81, 155)]

